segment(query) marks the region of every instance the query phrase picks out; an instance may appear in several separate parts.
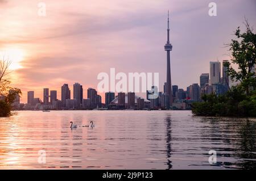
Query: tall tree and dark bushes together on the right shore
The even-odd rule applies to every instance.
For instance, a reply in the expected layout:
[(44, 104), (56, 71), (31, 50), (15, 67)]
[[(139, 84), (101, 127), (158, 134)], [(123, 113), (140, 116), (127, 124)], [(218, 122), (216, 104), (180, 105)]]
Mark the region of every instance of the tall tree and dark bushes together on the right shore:
[(224, 95), (201, 95), (202, 102), (193, 103), (192, 113), (197, 116), (239, 116), (256, 117), (256, 35), (245, 20), (246, 32), (237, 28), (236, 40), (228, 46), (232, 53), (231, 62), (238, 67), (233, 69), (230, 62), (225, 63), (227, 74), (237, 86), (229, 87)]

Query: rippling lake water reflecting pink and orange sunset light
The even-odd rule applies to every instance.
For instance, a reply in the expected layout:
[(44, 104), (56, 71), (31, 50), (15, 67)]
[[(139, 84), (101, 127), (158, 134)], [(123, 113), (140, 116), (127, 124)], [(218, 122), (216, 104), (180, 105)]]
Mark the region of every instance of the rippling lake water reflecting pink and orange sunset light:
[[(256, 168), (253, 118), (191, 111), (17, 113), (0, 118), (0, 169)], [(77, 129), (69, 128), (71, 120)], [(91, 120), (94, 128), (79, 127)], [(217, 163), (209, 163), (209, 150), (216, 150)]]

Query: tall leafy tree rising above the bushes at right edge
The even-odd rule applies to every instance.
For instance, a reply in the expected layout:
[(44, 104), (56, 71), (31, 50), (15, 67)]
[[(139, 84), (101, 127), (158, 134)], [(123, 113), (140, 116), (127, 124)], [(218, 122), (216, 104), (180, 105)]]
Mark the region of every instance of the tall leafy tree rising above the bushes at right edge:
[[(247, 19), (245, 19), (246, 32), (241, 33), (240, 27), (237, 28), (235, 35), (237, 40), (232, 39), (232, 43), (228, 44), (232, 51), (231, 61), (238, 65), (236, 71), (232, 68), (230, 62), (225, 62), (227, 74), (232, 80), (240, 81), (246, 95), (250, 93), (250, 87), (256, 87), (255, 60), (256, 60), (256, 34), (250, 27)], [(242, 40), (241, 40), (242, 39)]]

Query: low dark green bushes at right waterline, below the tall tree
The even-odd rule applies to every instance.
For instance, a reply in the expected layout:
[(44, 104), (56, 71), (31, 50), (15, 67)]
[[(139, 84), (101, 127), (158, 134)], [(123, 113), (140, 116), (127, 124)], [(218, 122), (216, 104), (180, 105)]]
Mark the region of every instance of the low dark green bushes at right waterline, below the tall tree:
[(203, 102), (192, 104), (192, 113), (199, 116), (256, 117), (256, 91), (247, 96), (240, 86), (232, 87), (225, 95), (203, 95)]

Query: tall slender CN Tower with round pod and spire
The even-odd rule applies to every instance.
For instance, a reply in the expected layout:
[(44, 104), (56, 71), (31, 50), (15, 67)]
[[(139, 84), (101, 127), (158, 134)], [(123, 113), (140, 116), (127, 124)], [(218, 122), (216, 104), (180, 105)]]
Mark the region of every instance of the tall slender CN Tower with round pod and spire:
[(169, 28), (169, 11), (168, 11), (168, 26), (167, 26), (167, 42), (164, 45), (164, 50), (167, 53), (167, 78), (166, 78), (166, 94), (169, 95), (170, 106), (172, 106), (172, 82), (171, 82), (171, 60), (170, 51), (172, 50), (172, 44), (170, 43), (170, 28)]

